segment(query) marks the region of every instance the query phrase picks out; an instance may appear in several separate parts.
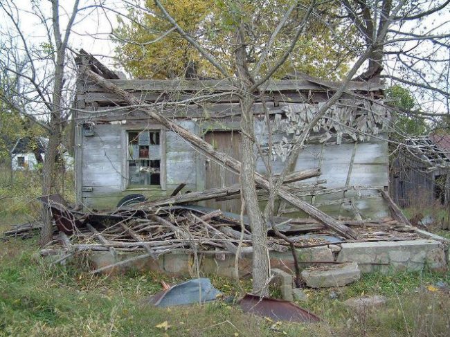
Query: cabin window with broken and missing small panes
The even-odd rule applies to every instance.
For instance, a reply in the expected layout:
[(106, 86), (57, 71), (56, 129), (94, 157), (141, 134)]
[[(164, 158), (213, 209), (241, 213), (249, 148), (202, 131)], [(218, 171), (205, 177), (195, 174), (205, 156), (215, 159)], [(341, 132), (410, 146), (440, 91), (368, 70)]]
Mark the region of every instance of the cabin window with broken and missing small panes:
[(159, 130), (128, 131), (128, 185), (161, 185)]

